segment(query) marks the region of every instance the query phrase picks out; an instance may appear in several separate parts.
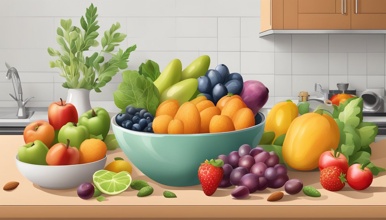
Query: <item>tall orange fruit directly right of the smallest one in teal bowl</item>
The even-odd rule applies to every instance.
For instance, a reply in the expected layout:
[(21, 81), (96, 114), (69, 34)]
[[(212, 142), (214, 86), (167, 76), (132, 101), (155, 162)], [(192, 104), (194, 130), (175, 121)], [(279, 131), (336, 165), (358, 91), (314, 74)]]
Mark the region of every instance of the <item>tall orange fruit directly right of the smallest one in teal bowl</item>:
[(179, 107), (174, 119), (179, 119), (184, 123), (184, 134), (197, 134), (200, 130), (200, 112), (198, 111), (196, 105), (191, 102), (186, 102), (181, 107)]

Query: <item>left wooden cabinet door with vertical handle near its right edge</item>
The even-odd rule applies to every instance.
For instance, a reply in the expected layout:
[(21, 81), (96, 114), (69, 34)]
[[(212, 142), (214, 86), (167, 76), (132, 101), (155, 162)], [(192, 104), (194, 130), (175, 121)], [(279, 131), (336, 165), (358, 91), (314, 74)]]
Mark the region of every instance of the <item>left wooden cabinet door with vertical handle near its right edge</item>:
[(298, 29), (351, 29), (349, 1), (298, 0)]

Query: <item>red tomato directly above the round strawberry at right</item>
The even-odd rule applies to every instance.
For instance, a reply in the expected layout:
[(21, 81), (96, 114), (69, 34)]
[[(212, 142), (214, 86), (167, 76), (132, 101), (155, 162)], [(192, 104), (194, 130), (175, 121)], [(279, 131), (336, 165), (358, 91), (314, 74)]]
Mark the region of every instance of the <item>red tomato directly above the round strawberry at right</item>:
[(334, 154), (334, 151), (326, 151), (320, 155), (319, 158), (319, 170), (322, 171), (324, 168), (329, 166), (337, 166), (342, 169), (344, 174), (347, 174), (347, 170), (349, 169), (349, 163), (347, 162), (347, 158), (338, 153), (338, 157)]

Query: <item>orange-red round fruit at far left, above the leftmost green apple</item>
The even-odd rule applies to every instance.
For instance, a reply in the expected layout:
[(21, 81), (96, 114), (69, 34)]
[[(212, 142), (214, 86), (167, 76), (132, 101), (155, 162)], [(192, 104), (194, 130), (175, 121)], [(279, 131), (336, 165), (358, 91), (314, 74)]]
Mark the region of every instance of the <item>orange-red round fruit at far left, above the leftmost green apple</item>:
[(26, 144), (39, 140), (46, 144), (47, 148), (50, 148), (55, 138), (55, 131), (48, 121), (39, 120), (25, 127), (23, 137)]

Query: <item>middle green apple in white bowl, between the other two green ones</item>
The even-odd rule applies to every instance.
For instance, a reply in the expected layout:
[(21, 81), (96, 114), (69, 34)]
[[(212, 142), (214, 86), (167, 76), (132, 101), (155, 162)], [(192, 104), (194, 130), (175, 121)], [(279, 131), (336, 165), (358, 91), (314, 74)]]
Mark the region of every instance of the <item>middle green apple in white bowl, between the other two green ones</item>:
[(65, 124), (59, 131), (59, 143), (67, 143), (67, 139), (71, 142), (71, 147), (80, 148), (80, 144), (86, 139), (90, 139), (90, 131), (85, 126), (77, 125), (69, 122)]

